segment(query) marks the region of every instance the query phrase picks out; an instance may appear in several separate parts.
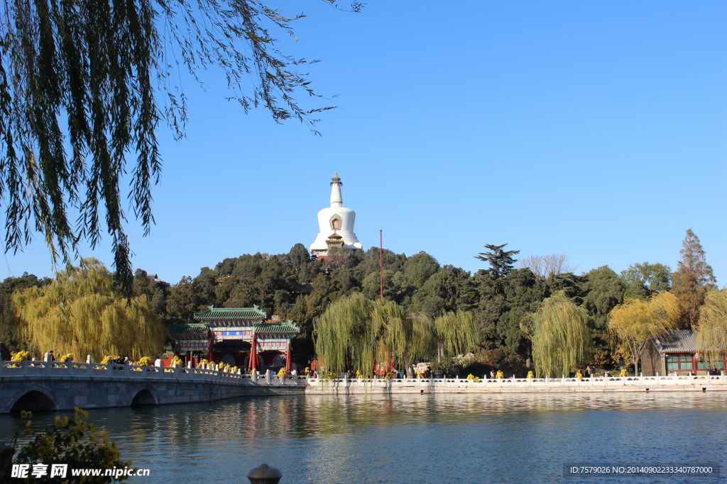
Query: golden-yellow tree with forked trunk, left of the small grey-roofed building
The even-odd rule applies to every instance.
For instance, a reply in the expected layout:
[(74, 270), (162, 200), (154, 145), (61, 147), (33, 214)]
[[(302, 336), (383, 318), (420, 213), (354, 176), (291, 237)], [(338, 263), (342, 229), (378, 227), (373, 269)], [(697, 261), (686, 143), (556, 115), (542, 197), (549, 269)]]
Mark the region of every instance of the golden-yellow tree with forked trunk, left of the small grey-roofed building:
[(648, 299), (630, 299), (611, 309), (608, 329), (629, 349), (635, 374), (648, 339), (676, 329), (680, 316), (679, 301), (665, 291)]

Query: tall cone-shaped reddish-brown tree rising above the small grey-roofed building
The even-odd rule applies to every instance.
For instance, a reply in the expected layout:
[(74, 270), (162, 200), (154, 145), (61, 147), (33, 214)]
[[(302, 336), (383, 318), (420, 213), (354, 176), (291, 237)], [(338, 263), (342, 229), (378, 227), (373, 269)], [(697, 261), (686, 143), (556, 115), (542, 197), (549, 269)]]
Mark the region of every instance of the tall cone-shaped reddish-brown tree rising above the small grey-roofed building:
[(672, 276), (672, 292), (681, 308), (679, 326), (692, 329), (699, 324), (699, 308), (704, 304), (704, 296), (717, 284), (717, 279), (712, 274), (712, 266), (704, 259), (699, 237), (691, 229), (686, 231), (679, 253), (681, 259)]

